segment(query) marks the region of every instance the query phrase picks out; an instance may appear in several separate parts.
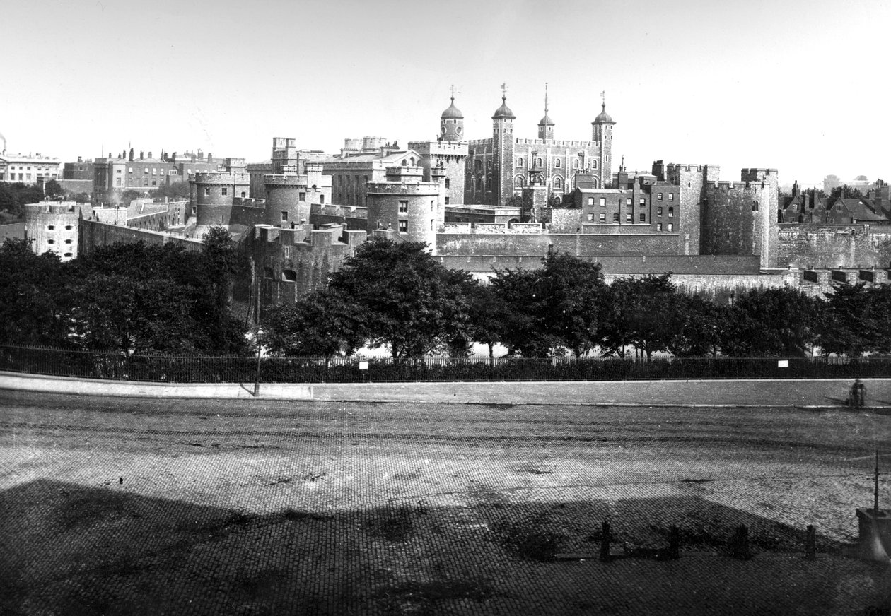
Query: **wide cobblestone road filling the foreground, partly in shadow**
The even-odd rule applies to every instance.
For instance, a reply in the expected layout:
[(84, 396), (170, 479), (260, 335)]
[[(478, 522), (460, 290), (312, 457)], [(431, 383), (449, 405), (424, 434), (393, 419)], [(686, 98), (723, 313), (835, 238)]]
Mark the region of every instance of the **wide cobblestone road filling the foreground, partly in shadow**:
[[(862, 614), (889, 421), (0, 392), (0, 614)], [(682, 558), (553, 560), (604, 520), (617, 553), (676, 524)]]

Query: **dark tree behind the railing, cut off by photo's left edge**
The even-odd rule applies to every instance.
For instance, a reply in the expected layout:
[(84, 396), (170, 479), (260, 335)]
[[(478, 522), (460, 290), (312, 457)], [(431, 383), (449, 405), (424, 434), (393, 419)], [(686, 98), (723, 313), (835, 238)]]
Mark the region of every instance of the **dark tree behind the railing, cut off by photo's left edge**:
[(66, 343), (68, 293), (59, 256), (35, 255), (28, 240), (0, 246), (0, 344)]

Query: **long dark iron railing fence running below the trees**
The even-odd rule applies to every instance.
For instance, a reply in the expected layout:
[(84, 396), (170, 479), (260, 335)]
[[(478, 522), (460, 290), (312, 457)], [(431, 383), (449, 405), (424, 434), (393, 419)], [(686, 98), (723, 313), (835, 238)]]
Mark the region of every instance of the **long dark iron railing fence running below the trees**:
[[(367, 363), (365, 363), (367, 362)], [(786, 363), (788, 365), (782, 366)], [(57, 377), (168, 383), (252, 383), (256, 356), (174, 356), (43, 347), (0, 346), (0, 370)], [(612, 381), (733, 378), (891, 377), (891, 357), (659, 357), (651, 361), (593, 358), (532, 359), (487, 356), (425, 357), (396, 363), (389, 357), (331, 361), (264, 357), (262, 383), (398, 381)]]

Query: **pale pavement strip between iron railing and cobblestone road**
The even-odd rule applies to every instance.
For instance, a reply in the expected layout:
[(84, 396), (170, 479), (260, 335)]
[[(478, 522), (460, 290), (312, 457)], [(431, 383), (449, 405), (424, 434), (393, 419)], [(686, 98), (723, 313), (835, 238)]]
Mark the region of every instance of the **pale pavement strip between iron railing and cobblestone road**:
[[(891, 409), (891, 379), (864, 378), (867, 406)], [(582, 404), (586, 406), (844, 407), (850, 379), (267, 384), (284, 401)], [(252, 400), (253, 383), (142, 383), (0, 372), (0, 389), (141, 398)]]

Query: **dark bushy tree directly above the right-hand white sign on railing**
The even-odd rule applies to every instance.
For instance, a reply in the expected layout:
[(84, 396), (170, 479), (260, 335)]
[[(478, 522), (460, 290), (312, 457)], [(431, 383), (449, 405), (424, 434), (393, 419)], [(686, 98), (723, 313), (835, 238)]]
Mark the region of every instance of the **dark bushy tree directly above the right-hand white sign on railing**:
[(737, 299), (723, 352), (737, 357), (804, 357), (823, 320), (822, 300), (795, 288), (751, 290)]

